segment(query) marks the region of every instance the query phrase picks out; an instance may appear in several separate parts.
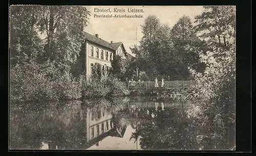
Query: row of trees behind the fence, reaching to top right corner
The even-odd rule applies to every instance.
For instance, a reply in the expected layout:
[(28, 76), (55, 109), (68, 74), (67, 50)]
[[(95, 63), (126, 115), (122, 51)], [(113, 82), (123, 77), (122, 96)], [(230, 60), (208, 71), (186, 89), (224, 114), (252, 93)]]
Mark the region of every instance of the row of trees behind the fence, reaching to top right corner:
[(202, 73), (206, 64), (200, 61), (200, 55), (206, 54), (215, 46), (230, 46), (229, 37), (232, 34), (229, 29), (234, 27), (231, 23), (234, 16), (227, 12), (230, 8), (205, 9), (212, 11), (204, 11), (196, 16), (195, 23), (184, 15), (172, 28), (160, 23), (159, 18), (154, 15), (146, 17), (141, 26), (143, 37), (139, 46), (130, 48), (136, 58), (131, 60), (126, 74), (129, 76), (132, 73), (135, 79), (138, 68), (139, 77), (144, 80), (156, 77), (189, 80), (194, 78), (188, 68)]

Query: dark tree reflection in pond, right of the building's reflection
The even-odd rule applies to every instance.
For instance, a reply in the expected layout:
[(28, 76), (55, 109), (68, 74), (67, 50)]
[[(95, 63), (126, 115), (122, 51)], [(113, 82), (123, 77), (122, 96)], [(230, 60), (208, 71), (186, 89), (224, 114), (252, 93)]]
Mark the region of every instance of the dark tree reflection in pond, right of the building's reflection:
[(140, 146), (144, 150), (214, 150), (217, 145), (217, 149), (226, 149), (225, 140), (212, 137), (215, 128), (193, 127), (200, 121), (188, 118), (183, 109), (134, 108), (121, 116), (126, 116), (135, 129), (130, 140), (136, 142), (140, 138)]

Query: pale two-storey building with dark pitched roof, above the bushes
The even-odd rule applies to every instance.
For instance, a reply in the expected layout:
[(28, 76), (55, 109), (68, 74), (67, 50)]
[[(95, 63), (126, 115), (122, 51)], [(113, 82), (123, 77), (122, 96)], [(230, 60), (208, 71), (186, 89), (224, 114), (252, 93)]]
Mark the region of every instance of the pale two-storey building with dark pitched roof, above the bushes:
[[(115, 55), (123, 58), (133, 57), (126, 52), (122, 42), (108, 42), (101, 39), (98, 34), (91, 35), (84, 31), (82, 34), (84, 42), (79, 52), (80, 58), (72, 66), (72, 74), (76, 76), (82, 72), (85, 72), (87, 77), (90, 77), (93, 72), (104, 71), (106, 73), (112, 68), (111, 60), (115, 58)], [(47, 39), (43, 39), (41, 44), (47, 48)]]

